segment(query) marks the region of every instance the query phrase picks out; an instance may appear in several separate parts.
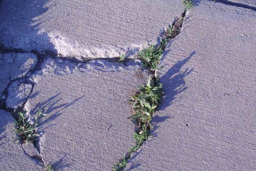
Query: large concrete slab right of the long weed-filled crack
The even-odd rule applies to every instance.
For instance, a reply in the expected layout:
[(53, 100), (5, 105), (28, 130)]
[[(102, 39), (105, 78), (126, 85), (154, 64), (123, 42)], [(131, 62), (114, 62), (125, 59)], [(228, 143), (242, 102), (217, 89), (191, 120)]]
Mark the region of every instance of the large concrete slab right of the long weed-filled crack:
[(202, 1), (168, 46), (153, 139), (125, 170), (256, 170), (256, 12)]

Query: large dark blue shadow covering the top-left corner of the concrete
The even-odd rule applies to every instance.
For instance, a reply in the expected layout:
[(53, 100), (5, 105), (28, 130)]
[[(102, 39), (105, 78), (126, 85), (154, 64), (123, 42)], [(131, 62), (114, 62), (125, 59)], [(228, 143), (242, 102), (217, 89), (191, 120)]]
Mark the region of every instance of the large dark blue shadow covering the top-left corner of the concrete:
[[(54, 17), (43, 15), (49, 10), (46, 7), (49, 2), (50, 0), (27, 0), (26, 3), (24, 1), (1, 2), (0, 17), (3, 22), (0, 23), (0, 28), (2, 28), (0, 44), (5, 46), (1, 51), (19, 52), (21, 49), (25, 51), (43, 49), (57, 54), (54, 45), (50, 43), (51, 38), (48, 36), (48, 32), (40, 28), (42, 23)], [(10, 9), (12, 9), (11, 12)]]

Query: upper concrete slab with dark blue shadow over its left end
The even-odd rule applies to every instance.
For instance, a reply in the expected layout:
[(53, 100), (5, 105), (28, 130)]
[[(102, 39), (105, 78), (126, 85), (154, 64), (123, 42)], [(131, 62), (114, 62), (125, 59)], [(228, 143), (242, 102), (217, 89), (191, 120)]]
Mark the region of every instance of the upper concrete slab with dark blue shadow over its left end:
[(117, 57), (156, 42), (183, 10), (181, 0), (6, 0), (0, 4), (0, 43), (64, 56)]

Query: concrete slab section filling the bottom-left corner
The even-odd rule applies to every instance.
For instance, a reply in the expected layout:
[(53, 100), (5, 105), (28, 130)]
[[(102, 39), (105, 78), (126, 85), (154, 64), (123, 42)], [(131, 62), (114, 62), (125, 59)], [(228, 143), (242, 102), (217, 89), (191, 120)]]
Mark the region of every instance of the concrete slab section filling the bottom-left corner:
[(0, 170), (42, 170), (42, 165), (22, 150), (21, 145), (14, 141), (17, 137), (13, 132), (14, 119), (10, 113), (0, 110)]

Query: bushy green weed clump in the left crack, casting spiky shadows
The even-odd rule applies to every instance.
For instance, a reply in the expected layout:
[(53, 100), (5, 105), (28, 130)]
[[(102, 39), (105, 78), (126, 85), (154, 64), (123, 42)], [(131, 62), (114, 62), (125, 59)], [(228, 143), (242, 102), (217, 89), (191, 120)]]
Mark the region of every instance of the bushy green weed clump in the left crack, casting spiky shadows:
[(39, 110), (35, 117), (36, 121), (33, 124), (30, 124), (26, 113), (27, 111), (19, 112), (18, 120), (14, 122), (14, 132), (19, 134), (20, 140), (23, 143), (28, 141), (34, 142), (36, 140), (36, 137), (38, 136), (36, 128), (38, 126), (38, 119), (46, 115)]

